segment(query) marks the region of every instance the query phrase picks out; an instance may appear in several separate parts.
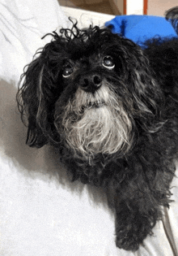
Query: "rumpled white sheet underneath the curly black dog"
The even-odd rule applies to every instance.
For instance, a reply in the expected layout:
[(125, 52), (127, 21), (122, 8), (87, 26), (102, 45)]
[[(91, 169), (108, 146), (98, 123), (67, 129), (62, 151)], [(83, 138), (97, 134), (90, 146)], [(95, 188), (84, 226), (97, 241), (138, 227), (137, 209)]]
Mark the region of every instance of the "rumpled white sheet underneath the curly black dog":
[[(15, 94), (23, 67), (50, 41), (40, 37), (66, 27), (66, 15), (80, 10), (59, 7), (56, 0), (0, 0), (0, 255), (1, 256), (175, 256), (178, 245), (178, 189), (164, 209), (155, 236), (136, 253), (117, 249), (114, 216), (100, 189), (71, 184), (49, 146), (25, 145)], [(81, 25), (112, 18), (85, 12)], [(87, 18), (88, 17), (88, 18)]]

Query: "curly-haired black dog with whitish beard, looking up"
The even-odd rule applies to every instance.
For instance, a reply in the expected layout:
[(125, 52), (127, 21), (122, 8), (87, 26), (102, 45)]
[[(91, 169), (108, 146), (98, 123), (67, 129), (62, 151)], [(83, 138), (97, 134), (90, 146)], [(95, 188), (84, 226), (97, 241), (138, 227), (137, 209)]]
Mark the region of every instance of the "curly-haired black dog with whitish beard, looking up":
[(53, 145), (73, 181), (104, 188), (116, 215), (116, 245), (135, 251), (172, 202), (177, 38), (154, 38), (142, 50), (109, 28), (79, 29), (77, 22), (48, 35), (53, 40), (19, 82), (26, 142)]

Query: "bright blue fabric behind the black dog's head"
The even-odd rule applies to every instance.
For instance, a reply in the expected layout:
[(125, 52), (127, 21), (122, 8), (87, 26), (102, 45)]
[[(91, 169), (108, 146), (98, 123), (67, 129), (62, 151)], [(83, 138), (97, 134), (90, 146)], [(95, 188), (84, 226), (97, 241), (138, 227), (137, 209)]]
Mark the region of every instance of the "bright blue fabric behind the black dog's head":
[(171, 20), (159, 16), (121, 15), (105, 25), (112, 26), (113, 33), (119, 33), (142, 47), (143, 42), (152, 37), (177, 37)]

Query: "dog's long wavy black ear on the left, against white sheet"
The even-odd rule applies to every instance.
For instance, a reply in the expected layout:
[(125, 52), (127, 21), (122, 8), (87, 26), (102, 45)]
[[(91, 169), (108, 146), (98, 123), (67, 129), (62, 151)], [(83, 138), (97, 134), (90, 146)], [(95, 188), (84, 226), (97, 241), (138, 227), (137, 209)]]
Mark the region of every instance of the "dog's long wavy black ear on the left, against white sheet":
[[(41, 147), (53, 138), (54, 104), (60, 94), (60, 47), (44, 46), (19, 81), (17, 102), (23, 123), (28, 126), (26, 143)], [(22, 85), (22, 86), (21, 86)]]

